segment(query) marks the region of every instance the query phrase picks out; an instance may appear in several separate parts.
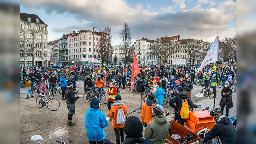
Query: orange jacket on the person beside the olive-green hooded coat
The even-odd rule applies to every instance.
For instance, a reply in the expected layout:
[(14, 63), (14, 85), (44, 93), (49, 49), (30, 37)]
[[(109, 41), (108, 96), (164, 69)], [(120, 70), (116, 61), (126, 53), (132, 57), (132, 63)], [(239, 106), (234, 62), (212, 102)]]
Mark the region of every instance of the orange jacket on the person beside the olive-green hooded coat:
[(141, 122), (144, 124), (146, 122), (146, 124), (148, 124), (149, 122), (152, 121), (152, 111), (153, 111), (153, 107), (152, 106), (148, 106), (146, 103), (144, 103), (142, 110), (141, 110)]

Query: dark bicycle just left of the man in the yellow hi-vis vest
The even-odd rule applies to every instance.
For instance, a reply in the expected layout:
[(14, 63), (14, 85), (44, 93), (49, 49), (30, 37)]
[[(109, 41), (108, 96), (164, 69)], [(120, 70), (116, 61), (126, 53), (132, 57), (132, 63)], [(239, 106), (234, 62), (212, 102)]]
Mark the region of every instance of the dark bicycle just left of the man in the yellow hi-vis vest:
[(104, 97), (102, 96), (102, 94), (98, 93), (97, 89), (97, 87), (87, 88), (87, 90), (85, 90), (84, 92), (84, 101), (89, 102), (93, 97), (95, 97), (100, 100), (100, 104), (102, 104), (104, 102)]

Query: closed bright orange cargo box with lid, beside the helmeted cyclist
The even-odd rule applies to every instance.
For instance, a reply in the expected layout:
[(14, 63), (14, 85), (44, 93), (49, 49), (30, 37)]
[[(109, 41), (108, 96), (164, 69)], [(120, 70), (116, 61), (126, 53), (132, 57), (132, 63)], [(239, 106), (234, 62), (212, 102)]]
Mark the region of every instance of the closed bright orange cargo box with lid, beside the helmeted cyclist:
[(207, 110), (189, 112), (189, 118), (184, 123), (185, 126), (195, 133), (204, 128), (212, 130), (214, 124), (215, 122)]

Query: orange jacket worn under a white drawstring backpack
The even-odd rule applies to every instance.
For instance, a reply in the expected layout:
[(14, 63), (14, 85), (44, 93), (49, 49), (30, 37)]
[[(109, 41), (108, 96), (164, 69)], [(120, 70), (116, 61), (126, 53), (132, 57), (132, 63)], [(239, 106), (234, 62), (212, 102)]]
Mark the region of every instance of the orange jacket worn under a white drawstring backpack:
[(120, 105), (120, 106), (115, 105), (115, 106), (111, 107), (111, 109), (110, 109), (110, 111), (108, 113), (108, 116), (112, 117), (112, 127), (115, 128), (115, 129), (120, 129), (120, 128), (124, 127), (124, 124), (116, 124), (116, 115), (117, 115), (118, 109), (120, 109), (120, 108), (123, 108), (124, 115), (126, 117), (128, 108), (127, 108), (127, 106), (125, 104)]

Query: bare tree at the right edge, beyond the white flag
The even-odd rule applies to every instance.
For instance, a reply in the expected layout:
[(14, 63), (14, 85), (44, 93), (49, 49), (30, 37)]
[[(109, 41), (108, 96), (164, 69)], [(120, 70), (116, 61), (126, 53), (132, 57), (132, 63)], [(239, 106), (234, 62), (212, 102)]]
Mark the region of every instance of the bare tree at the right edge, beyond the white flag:
[(219, 57), (222, 58), (223, 62), (236, 62), (236, 36), (233, 38), (225, 37), (219, 43)]

